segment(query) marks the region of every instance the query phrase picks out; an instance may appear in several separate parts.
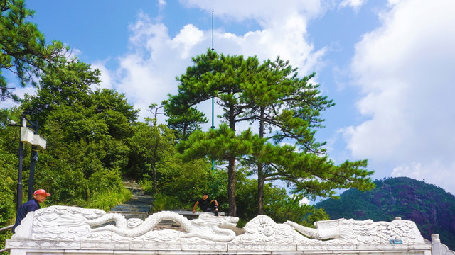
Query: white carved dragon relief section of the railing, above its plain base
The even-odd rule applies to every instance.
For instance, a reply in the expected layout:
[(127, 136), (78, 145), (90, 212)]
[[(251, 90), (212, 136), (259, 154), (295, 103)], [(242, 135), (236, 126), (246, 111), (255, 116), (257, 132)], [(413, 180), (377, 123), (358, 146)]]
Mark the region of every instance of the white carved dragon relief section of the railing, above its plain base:
[[(163, 220), (180, 225), (182, 231), (154, 230)], [(11, 240), (60, 240), (154, 243), (228, 243), (228, 244), (424, 244), (414, 222), (393, 220), (327, 220), (315, 223), (316, 228), (296, 222), (279, 224), (266, 215), (259, 215), (236, 236), (237, 217), (200, 215), (188, 220), (176, 212), (156, 212), (145, 220), (129, 219), (117, 213), (69, 206), (50, 206), (31, 212), (16, 228)]]

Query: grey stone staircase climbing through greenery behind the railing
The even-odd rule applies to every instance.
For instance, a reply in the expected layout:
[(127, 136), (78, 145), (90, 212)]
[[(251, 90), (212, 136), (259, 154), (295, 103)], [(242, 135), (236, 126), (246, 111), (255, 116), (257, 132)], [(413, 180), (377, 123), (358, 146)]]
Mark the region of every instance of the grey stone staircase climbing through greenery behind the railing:
[(149, 212), (154, 203), (154, 197), (146, 194), (141, 186), (135, 181), (125, 179), (123, 184), (132, 191), (133, 196), (127, 202), (114, 206), (109, 212), (121, 213), (127, 219), (139, 218), (144, 220), (149, 216)]

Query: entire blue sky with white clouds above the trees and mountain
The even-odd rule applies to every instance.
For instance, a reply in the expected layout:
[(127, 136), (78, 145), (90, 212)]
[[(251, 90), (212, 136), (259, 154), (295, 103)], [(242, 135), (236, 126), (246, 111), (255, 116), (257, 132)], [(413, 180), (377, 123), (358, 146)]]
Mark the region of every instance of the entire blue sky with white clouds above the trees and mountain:
[[(151, 117), (151, 103), (176, 94), (176, 77), (212, 42), (225, 55), (279, 56), (301, 77), (316, 72), (312, 81), (336, 103), (322, 113), (326, 128), (316, 133), (334, 162), (368, 159), (373, 179), (407, 176), (455, 194), (453, 0), (29, 0), (26, 6), (36, 11), (31, 21), (48, 42), (62, 41), (100, 69), (100, 86), (123, 93), (142, 119)], [(209, 128), (210, 102), (198, 108)]]

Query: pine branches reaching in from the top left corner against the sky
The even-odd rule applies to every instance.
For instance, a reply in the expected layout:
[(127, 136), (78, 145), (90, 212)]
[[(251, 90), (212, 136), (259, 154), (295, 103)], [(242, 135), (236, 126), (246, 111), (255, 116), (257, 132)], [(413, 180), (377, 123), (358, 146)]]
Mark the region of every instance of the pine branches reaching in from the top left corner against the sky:
[(39, 77), (44, 69), (54, 68), (66, 62), (69, 47), (53, 41), (45, 44), (44, 35), (35, 23), (27, 21), (34, 11), (26, 8), (23, 0), (0, 1), (0, 101), (18, 97), (7, 87), (4, 70), (16, 74), (21, 86), (31, 83), (36, 86), (34, 77)]

